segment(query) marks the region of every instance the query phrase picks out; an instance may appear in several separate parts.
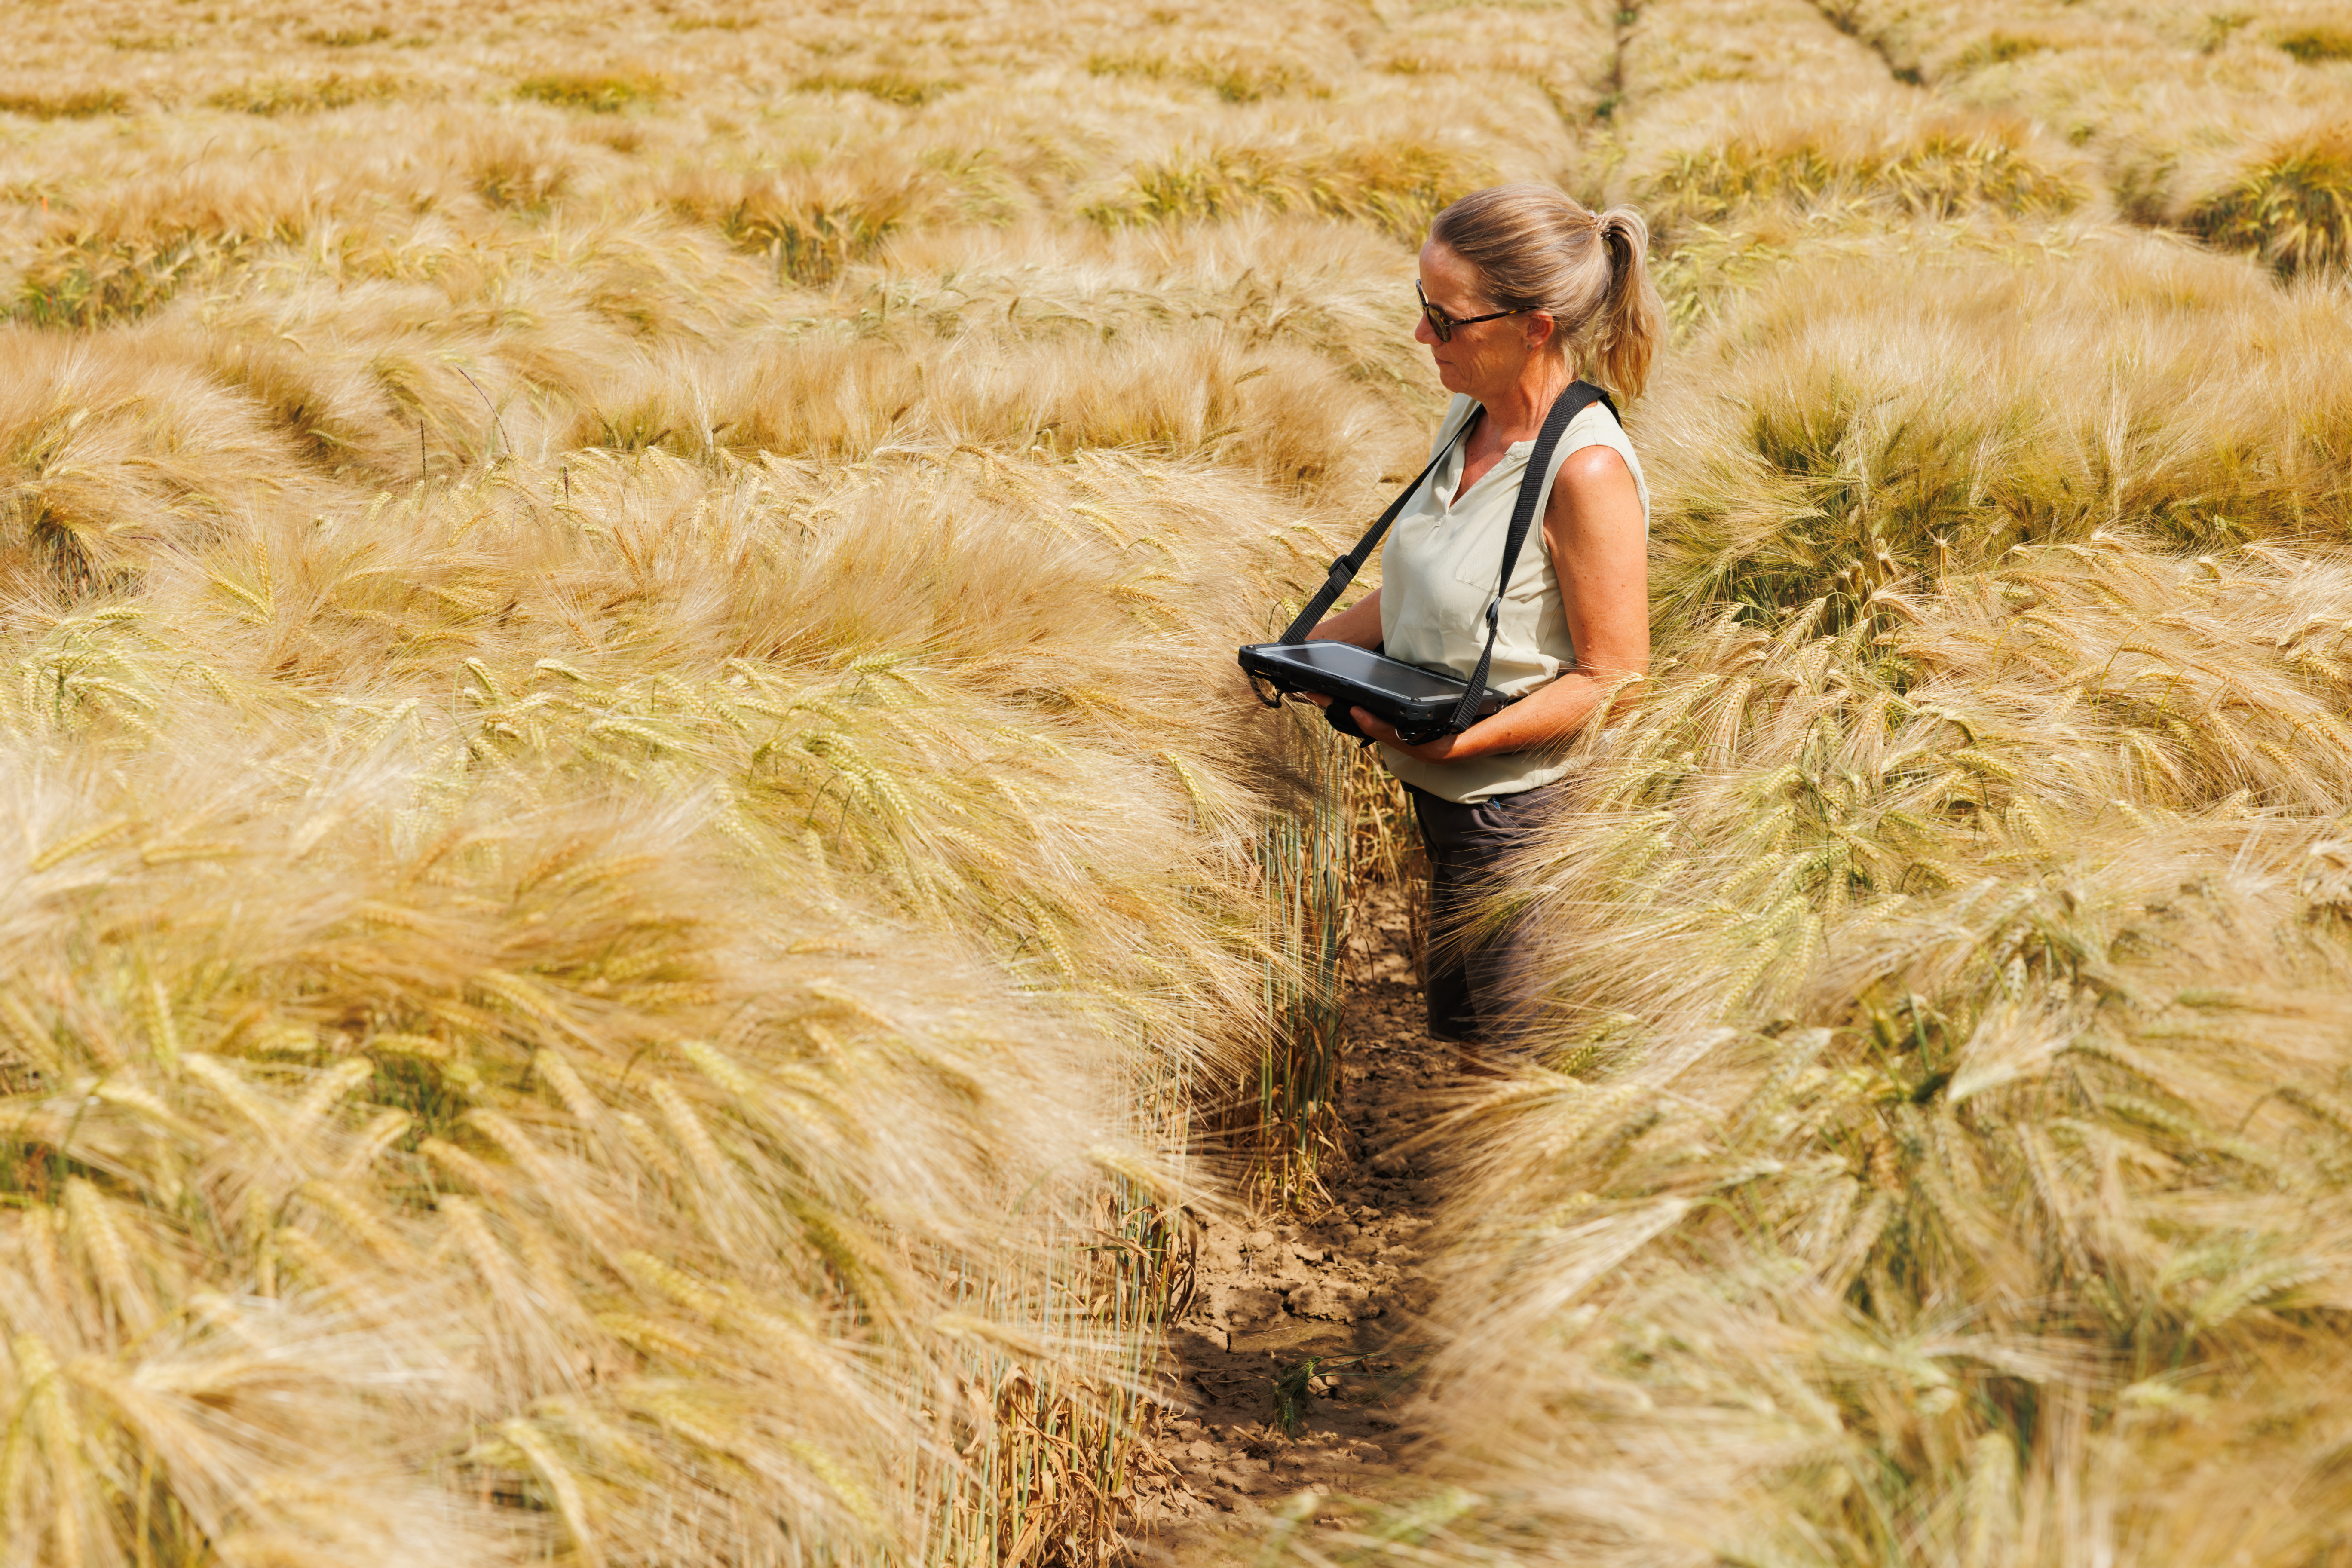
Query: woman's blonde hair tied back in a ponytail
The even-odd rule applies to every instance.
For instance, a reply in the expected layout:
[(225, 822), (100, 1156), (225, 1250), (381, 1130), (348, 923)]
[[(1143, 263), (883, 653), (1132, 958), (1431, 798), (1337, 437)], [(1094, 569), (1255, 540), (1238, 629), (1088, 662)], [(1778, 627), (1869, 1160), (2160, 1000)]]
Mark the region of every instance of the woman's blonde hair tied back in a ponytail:
[(1550, 310), (1552, 341), (1611, 393), (1642, 395), (1665, 308), (1639, 212), (1592, 212), (1550, 186), (1489, 186), (1439, 212), (1430, 240), (1477, 268), (1498, 308)]

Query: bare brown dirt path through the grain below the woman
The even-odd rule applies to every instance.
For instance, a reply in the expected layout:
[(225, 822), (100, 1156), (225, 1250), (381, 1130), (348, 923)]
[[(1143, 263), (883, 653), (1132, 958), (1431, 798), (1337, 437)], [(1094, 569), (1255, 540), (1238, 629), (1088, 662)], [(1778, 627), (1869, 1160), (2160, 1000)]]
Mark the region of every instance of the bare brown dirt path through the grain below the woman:
[(1404, 1474), (1399, 1410), (1425, 1352), (1421, 1237), (1435, 1194), (1399, 1145), (1461, 1070), (1423, 1030), (1399, 896), (1357, 910), (1345, 985), (1350, 1150), (1327, 1171), (1336, 1206), (1207, 1222), (1134, 1483), (1136, 1561), (1185, 1561), (1308, 1488), (1378, 1495)]

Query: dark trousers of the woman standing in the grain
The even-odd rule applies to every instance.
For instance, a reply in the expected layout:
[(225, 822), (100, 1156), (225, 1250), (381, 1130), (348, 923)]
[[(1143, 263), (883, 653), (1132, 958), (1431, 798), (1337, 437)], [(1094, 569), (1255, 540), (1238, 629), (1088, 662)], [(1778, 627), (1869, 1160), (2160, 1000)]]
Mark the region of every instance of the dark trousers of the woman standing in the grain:
[(1421, 961), (1430, 1034), (1468, 1046), (1505, 1044), (1517, 1001), (1512, 933), (1505, 929), (1470, 940), (1463, 917), (1496, 863), (1541, 820), (1559, 785), (1496, 795), (1470, 806), (1404, 788), (1414, 797), (1421, 844), (1430, 851), (1430, 943)]

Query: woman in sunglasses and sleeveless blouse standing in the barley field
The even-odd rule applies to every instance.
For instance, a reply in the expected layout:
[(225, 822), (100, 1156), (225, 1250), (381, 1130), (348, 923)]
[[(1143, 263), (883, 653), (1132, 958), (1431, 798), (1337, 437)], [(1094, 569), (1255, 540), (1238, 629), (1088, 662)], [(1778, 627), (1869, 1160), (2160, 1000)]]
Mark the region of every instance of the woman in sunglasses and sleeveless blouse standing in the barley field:
[(1557, 792), (1559, 748), (1611, 686), (1649, 670), (1649, 489), (1625, 430), (1595, 402), (1569, 423), (1550, 473), (1526, 473), (1543, 416), (1578, 374), (1639, 397), (1661, 336), (1646, 249), (1630, 207), (1595, 214), (1548, 186), (1477, 190), (1437, 214), (1414, 339), (1454, 393), (1430, 456), (1454, 451), (1397, 515), (1381, 588), (1312, 632), (1470, 679), (1512, 501), (1522, 482), (1545, 487), (1543, 548), (1519, 552), (1486, 677), (1517, 701), (1425, 745), (1352, 710), (1414, 797), (1439, 938), (1423, 973), (1430, 1034), (1461, 1046), (1501, 1044), (1510, 954), (1508, 943), (1446, 933), (1477, 877)]

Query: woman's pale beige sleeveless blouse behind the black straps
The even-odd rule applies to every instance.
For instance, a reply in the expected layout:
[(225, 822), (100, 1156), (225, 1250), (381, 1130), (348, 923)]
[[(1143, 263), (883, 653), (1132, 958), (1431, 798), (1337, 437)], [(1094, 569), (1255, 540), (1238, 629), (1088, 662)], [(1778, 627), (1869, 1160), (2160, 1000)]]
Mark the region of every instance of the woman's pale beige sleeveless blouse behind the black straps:
[[(1470, 397), (1456, 395), (1437, 440), (1430, 442), (1430, 454), (1454, 440), (1475, 411)], [(1512, 442), (1461, 501), (1451, 501), (1465, 461), (1463, 447), (1456, 447), (1397, 515), (1388, 543), (1381, 545), (1383, 654), (1461, 679), (1470, 679), (1477, 670), (1477, 656), (1486, 646), (1486, 602), (1503, 574), (1510, 508), (1519, 498), (1519, 475), (1526, 473), (1534, 447), (1536, 442)], [(1642, 529), (1649, 529), (1649, 484), (1642, 480), (1642, 461), (1632, 454), (1625, 428), (1595, 402), (1569, 421), (1566, 435), (1552, 449), (1552, 470), (1543, 475), (1536, 524), (1519, 545), (1519, 562), (1503, 595), (1501, 635), (1494, 639), (1494, 665), (1486, 672), (1486, 684), (1496, 691), (1524, 696), (1562, 670), (1576, 668), (1559, 576), (1552, 571), (1550, 550), (1543, 548), (1543, 508), (1559, 480), (1559, 465), (1585, 447), (1609, 447), (1625, 458), (1642, 494)], [(1543, 752), (1421, 762), (1383, 745), (1381, 759), (1404, 783), (1463, 804), (1536, 790), (1569, 771)]]

